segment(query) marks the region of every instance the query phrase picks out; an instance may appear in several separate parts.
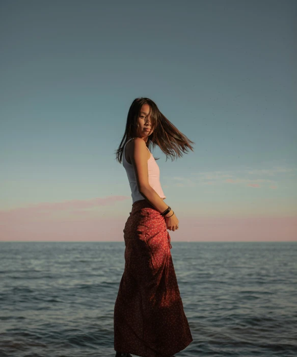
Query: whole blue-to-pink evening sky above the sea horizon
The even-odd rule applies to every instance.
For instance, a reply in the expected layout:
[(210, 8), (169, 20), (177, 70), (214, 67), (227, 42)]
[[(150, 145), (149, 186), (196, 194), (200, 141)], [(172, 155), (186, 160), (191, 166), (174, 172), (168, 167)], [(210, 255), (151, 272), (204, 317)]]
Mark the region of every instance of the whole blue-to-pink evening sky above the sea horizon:
[(115, 151), (152, 99), (194, 152), (160, 158), (174, 242), (297, 241), (297, 3), (4, 1), (0, 241), (118, 241)]

